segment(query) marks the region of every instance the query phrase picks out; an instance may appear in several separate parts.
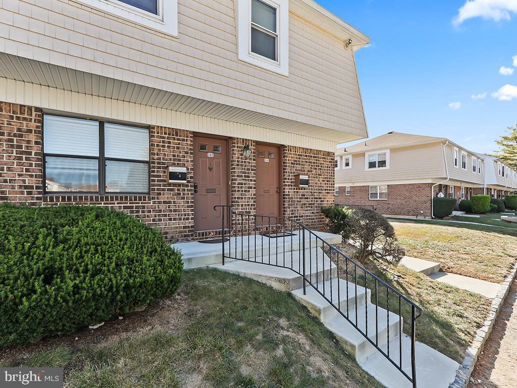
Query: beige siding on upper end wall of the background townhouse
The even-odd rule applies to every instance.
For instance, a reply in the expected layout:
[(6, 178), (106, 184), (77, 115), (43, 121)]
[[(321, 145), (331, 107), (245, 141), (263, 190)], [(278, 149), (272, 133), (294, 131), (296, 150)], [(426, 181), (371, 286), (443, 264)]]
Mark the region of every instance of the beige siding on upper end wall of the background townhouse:
[(352, 154), (352, 169), (336, 170), (336, 183), (418, 181), (445, 177), (441, 143), (391, 148), (390, 168), (386, 170), (365, 171), (364, 155)]

